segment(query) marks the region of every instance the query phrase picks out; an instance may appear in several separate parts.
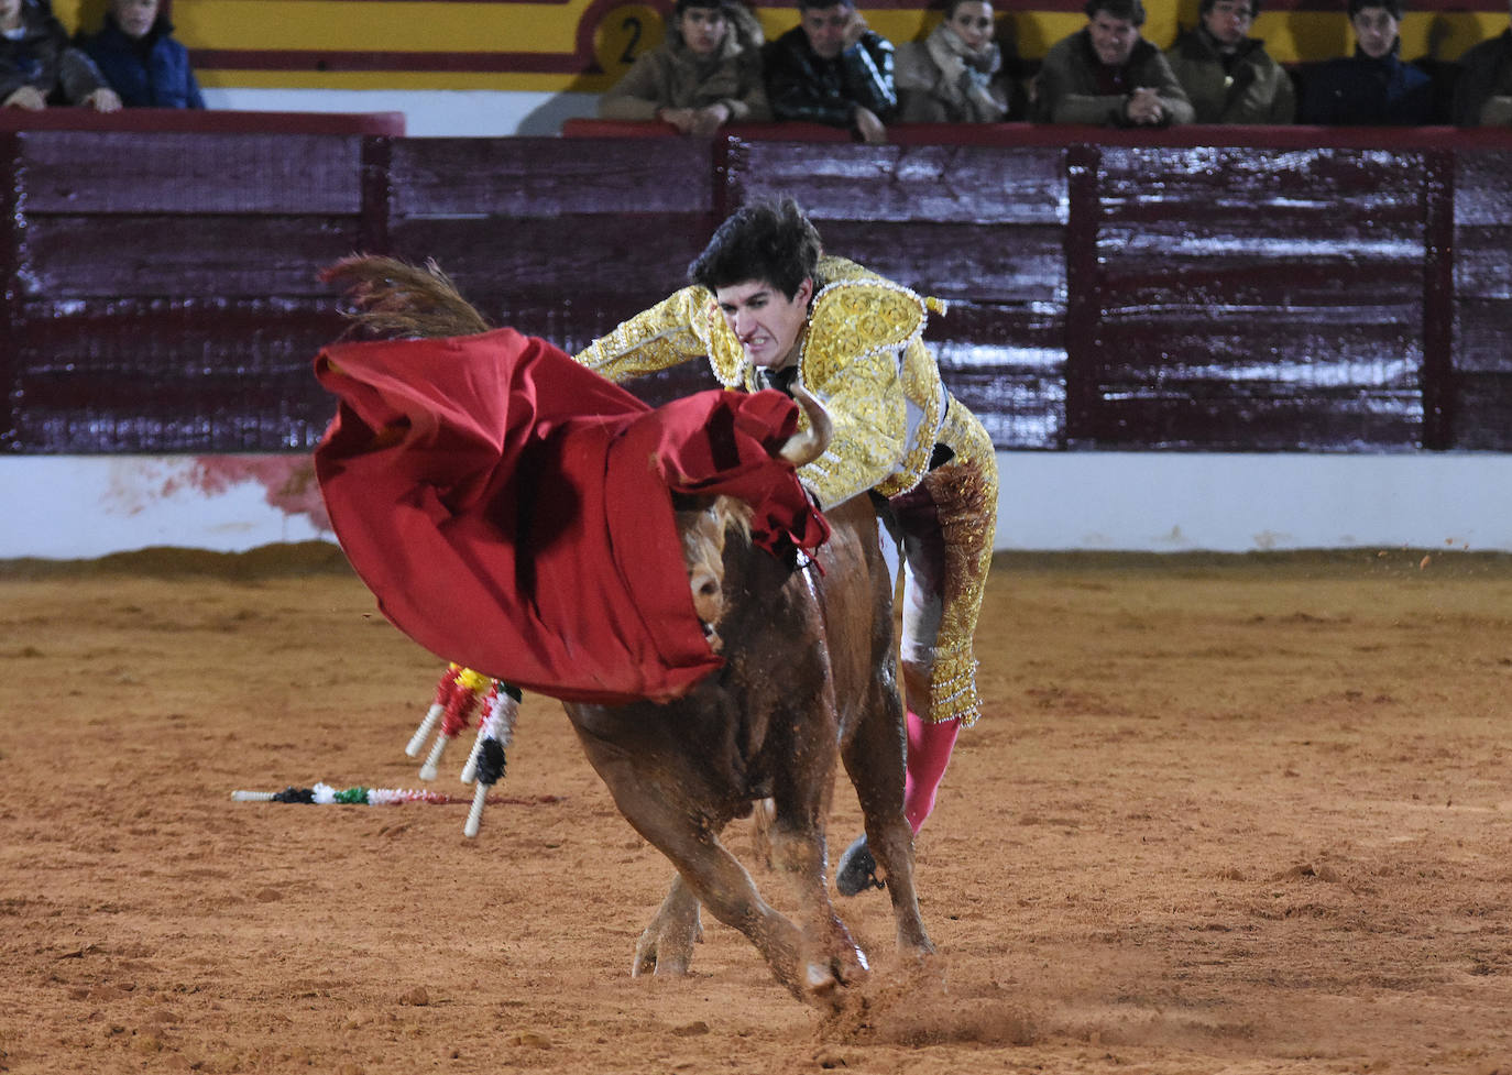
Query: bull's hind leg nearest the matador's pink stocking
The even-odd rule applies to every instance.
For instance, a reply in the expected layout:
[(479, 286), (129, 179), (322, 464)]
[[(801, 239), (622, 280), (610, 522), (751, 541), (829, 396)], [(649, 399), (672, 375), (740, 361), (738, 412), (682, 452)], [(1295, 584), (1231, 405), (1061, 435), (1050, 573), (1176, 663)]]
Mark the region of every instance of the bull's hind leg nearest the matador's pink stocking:
[(866, 842), (888, 883), (898, 950), (925, 956), (934, 943), (924, 930), (913, 888), (913, 830), (903, 813), (903, 702), (897, 691), (866, 708), (841, 759), (856, 788)]

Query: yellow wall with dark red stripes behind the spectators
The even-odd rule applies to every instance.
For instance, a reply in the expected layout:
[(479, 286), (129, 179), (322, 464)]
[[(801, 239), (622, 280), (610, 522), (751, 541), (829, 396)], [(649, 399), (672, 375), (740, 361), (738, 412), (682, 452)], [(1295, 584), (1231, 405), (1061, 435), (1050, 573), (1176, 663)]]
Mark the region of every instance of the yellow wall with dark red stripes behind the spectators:
[[(1084, 24), (1083, 0), (999, 6), (1002, 35), (1037, 59)], [(1409, 0), (1403, 56), (1458, 59), (1507, 26), (1504, 0)], [(70, 27), (97, 26), (104, 0), (56, 0)], [(1160, 45), (1196, 21), (1198, 0), (1146, 0), (1146, 36)], [(662, 38), (671, 0), (174, 0), (177, 36), (210, 88), (466, 89), (602, 92)], [(863, 0), (871, 26), (910, 41), (939, 18), (928, 0)], [(762, 8), (770, 36), (795, 8)], [(1253, 33), (1282, 62), (1353, 47), (1344, 0), (1266, 3)]]

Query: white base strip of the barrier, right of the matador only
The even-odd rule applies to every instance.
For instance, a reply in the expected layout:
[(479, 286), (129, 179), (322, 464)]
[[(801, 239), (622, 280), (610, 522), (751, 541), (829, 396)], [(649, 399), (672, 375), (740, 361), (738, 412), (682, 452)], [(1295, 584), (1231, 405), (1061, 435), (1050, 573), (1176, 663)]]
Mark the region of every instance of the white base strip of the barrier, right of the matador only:
[(998, 549), (1512, 550), (1512, 455), (999, 452)]

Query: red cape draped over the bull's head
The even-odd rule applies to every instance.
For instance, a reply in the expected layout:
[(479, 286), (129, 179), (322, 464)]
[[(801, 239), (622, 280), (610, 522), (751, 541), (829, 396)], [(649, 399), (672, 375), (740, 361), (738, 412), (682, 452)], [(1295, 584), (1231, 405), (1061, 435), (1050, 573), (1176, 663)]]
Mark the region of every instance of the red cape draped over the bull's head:
[(829, 537), (777, 392), (652, 410), (544, 340), (339, 343), (314, 472), (342, 547), (401, 630), (569, 702), (667, 700), (723, 661), (692, 609), (671, 491), (729, 493), (780, 553)]

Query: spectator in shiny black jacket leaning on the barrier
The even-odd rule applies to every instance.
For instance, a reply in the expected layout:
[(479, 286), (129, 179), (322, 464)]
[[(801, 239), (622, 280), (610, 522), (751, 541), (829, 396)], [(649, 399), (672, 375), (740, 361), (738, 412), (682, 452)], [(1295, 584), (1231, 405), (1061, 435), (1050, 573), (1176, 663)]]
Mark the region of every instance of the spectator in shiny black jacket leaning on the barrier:
[(898, 109), (892, 42), (868, 29), (850, 0), (798, 0), (798, 20), (767, 45), (773, 115), (886, 142), (886, 124)]

